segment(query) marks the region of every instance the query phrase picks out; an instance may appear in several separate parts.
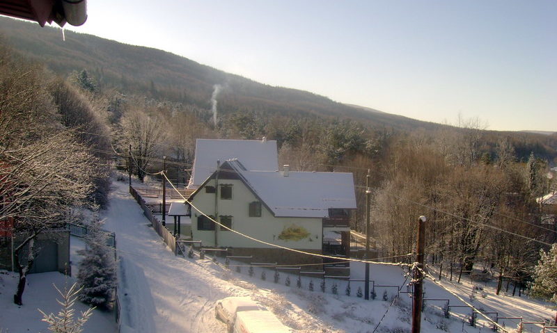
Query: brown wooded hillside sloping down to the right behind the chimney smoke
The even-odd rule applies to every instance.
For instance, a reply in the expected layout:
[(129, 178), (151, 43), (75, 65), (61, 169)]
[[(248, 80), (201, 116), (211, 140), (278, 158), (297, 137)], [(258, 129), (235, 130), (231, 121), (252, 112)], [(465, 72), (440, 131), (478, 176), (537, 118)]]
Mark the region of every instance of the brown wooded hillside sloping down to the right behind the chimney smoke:
[[(100, 86), (195, 104), (210, 108), (214, 85), (221, 85), (219, 112), (256, 111), (283, 115), (317, 115), (352, 118), (372, 127), (393, 129), (437, 129), (439, 124), (421, 122), (399, 115), (370, 112), (331, 101), (301, 90), (267, 86), (228, 74), (182, 56), (93, 35), (40, 28), (38, 24), (0, 17), (3, 38), (26, 58), (45, 63), (49, 69), (67, 76), (87, 70)], [(178, 41), (177, 41), (178, 42)]]

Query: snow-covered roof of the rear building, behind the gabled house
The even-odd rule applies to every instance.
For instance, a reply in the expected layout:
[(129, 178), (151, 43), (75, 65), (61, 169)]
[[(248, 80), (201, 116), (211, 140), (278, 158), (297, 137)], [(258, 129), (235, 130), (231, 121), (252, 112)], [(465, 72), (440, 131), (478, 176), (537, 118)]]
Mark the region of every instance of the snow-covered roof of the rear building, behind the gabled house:
[(248, 170), (278, 169), (278, 153), (274, 140), (197, 139), (194, 168), (188, 188), (196, 189), (228, 159), (240, 159)]

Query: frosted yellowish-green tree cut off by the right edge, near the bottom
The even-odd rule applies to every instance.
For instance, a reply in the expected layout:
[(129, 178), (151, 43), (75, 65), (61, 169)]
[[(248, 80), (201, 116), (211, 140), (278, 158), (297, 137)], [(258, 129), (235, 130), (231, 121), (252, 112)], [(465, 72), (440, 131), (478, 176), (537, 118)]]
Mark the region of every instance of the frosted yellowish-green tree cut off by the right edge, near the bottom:
[(540, 261), (533, 277), (531, 295), (557, 302), (557, 244), (549, 252), (540, 250)]

